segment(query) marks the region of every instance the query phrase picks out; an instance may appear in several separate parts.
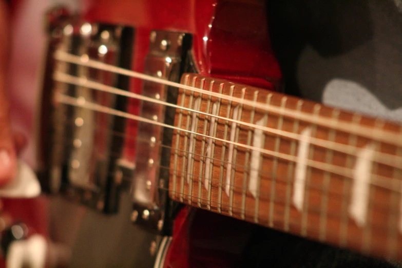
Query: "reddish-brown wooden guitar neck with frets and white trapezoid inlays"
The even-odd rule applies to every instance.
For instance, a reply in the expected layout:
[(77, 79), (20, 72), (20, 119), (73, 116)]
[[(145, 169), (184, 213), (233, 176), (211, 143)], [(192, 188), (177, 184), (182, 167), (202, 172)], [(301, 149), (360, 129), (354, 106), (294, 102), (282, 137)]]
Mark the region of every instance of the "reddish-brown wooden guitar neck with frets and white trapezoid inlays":
[(367, 254), (402, 256), (399, 125), (186, 74), (169, 195)]

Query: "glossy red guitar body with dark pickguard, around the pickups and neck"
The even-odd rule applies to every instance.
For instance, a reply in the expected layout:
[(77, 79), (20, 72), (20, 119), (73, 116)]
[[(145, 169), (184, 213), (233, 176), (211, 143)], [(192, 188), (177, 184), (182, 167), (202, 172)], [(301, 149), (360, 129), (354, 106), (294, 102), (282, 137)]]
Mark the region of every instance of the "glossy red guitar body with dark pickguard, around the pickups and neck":
[[(30, 6), (24, 1), (18, 2), (13, 6), (14, 13), (22, 16), (18, 8), (27, 9)], [(280, 87), (281, 73), (270, 45), (266, 10), (259, 1), (102, 0), (86, 3), (86, 10), (82, 14), (84, 21), (136, 29), (132, 70), (144, 71), (152, 30), (185, 32), (193, 35), (191, 53), (199, 73), (269, 90)], [(20, 21), (24, 20), (20, 18)], [(142, 87), (140, 80), (134, 80), (129, 91), (142, 93)], [(132, 114), (138, 114), (139, 109), (138, 102), (128, 104), (127, 110)], [(31, 124), (28, 129), (32, 127)], [(135, 134), (137, 127), (137, 124), (128, 124), (125, 132)], [(135, 162), (135, 156), (136, 141), (128, 139), (124, 144), (123, 158)], [(41, 166), (40, 163), (38, 165)], [(27, 222), (36, 232), (70, 246), (72, 267), (154, 265), (157, 252), (152, 248), (152, 243), (155, 243), (157, 236), (130, 222), (132, 202), (128, 191), (122, 193), (119, 211), (114, 215), (103, 215), (59, 196), (25, 201), (6, 200), (5, 209), (15, 219)], [(233, 228), (227, 228), (227, 224)], [(188, 256), (183, 254), (184, 248), (170, 247), (171, 252), (165, 262), (168, 267), (236, 266), (250, 235), (243, 227), (254, 228), (251, 224), (215, 214), (189, 213), (188, 208), (179, 213), (174, 226), (174, 245), (184, 246), (190, 240), (195, 243), (188, 246)], [(209, 233), (204, 240), (205, 231), (212, 230), (212, 227), (216, 228), (216, 232)], [(236, 235), (239, 229), (243, 230), (241, 237)], [(188, 231), (190, 237), (187, 238), (190, 240), (182, 237)], [(199, 240), (203, 240), (201, 244)], [(223, 244), (216, 248), (217, 242)], [(233, 247), (234, 244), (237, 246)], [(175, 256), (174, 252), (178, 250), (179, 256)]]

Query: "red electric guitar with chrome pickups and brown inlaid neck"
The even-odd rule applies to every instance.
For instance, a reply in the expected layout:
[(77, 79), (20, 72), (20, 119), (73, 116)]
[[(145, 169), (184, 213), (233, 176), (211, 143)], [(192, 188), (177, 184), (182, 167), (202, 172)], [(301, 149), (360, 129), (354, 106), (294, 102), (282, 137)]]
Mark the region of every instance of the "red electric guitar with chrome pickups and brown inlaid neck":
[(71, 266), (236, 267), (261, 226), (401, 258), (400, 125), (278, 92), (263, 3), (102, 0), (47, 32), (38, 174)]

